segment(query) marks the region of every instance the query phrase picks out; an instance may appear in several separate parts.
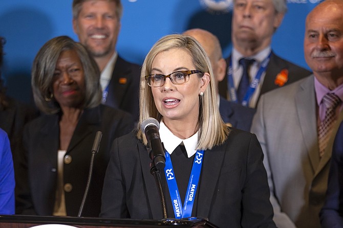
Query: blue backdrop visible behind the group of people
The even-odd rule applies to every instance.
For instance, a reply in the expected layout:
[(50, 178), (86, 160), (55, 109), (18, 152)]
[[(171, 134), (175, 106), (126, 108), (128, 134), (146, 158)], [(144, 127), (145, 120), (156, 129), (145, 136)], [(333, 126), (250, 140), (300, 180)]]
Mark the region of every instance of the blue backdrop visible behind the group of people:
[[(122, 0), (124, 13), (117, 50), (128, 61), (141, 64), (162, 36), (203, 28), (219, 37), (223, 56), (231, 49), (232, 0)], [(307, 13), (320, 0), (288, 0), (288, 12), (276, 31), (272, 48), (276, 54), (308, 68), (303, 39)], [(0, 36), (7, 40), (3, 79), (8, 94), (31, 100), (30, 72), (39, 48), (49, 39), (68, 35), (72, 29), (72, 0), (1, 0)]]

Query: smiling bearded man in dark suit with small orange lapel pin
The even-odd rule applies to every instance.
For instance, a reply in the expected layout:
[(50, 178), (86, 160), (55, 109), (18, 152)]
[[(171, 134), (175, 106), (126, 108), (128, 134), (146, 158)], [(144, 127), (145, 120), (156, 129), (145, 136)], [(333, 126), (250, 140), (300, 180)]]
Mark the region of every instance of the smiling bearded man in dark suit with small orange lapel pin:
[(122, 11), (120, 0), (74, 0), (73, 29), (101, 71), (102, 103), (137, 119), (140, 66), (116, 51)]

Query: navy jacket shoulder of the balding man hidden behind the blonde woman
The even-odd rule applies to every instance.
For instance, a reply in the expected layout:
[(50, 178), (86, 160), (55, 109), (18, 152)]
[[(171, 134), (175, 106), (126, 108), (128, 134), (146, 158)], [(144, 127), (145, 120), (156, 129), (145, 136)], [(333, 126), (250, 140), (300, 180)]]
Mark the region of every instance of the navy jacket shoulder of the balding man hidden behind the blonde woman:
[(256, 109), (228, 101), (220, 96), (219, 111), (223, 121), (232, 127), (250, 131)]

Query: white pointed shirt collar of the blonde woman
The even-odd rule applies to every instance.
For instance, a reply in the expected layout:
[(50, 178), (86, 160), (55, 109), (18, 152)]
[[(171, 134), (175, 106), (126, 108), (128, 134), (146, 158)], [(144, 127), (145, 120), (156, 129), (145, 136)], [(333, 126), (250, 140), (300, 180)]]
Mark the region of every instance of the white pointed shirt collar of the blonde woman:
[(173, 153), (175, 148), (177, 148), (181, 143), (186, 148), (187, 156), (188, 158), (193, 156), (197, 150), (197, 144), (198, 144), (198, 131), (194, 135), (190, 136), (188, 139), (180, 139), (177, 136), (175, 136), (161, 121), (160, 123), (160, 138), (161, 142), (163, 143), (164, 148), (166, 151), (168, 151), (169, 154)]

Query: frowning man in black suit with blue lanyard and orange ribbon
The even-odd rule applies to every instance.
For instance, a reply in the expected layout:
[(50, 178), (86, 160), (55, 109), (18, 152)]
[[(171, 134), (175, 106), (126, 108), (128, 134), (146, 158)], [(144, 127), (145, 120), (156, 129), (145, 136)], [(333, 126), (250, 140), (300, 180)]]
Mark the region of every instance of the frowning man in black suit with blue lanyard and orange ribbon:
[(226, 59), (226, 76), (219, 82), (221, 96), (255, 108), (260, 95), (311, 74), (271, 49), (272, 36), (286, 11), (286, 0), (233, 1), (233, 48)]

